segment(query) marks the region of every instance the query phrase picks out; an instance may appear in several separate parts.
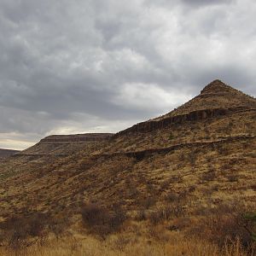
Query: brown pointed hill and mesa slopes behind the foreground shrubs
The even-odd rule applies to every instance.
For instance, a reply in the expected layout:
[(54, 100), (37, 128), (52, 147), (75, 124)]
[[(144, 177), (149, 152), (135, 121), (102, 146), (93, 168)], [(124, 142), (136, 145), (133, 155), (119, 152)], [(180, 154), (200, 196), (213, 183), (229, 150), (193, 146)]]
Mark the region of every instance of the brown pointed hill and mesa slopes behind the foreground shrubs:
[(255, 133), (256, 100), (215, 80), (172, 112), (103, 140), (46, 137), (0, 163), (0, 214), (74, 221), (89, 201), (131, 217), (167, 206), (177, 216), (231, 201), (255, 206)]

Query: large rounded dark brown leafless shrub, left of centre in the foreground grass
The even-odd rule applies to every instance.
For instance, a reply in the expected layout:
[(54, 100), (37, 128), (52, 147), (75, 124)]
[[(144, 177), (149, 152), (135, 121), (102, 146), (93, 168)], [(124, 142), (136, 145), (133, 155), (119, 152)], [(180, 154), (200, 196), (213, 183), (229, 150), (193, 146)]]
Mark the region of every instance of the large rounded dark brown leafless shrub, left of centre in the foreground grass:
[(114, 207), (113, 211), (110, 211), (106, 207), (92, 203), (82, 207), (81, 215), (90, 233), (102, 238), (118, 231), (125, 221), (125, 212), (120, 207)]

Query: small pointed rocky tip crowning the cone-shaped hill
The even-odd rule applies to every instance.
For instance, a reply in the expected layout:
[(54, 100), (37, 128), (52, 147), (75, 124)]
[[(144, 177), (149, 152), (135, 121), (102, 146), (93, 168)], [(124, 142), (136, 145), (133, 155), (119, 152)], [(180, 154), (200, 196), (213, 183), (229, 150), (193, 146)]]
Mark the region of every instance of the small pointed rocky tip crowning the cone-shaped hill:
[[(201, 90), (201, 95), (205, 94), (218, 94), (218, 93), (239, 93), (239, 90), (232, 88), (230, 85), (224, 84), (221, 80), (214, 80), (212, 83)], [(241, 93), (241, 92), (240, 92)]]

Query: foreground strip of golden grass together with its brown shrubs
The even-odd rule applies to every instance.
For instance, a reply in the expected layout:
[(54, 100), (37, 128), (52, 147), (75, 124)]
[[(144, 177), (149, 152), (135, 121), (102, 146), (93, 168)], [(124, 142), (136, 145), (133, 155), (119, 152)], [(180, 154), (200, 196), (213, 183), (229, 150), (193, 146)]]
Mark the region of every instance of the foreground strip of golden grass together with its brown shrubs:
[(68, 225), (34, 213), (1, 225), (0, 255), (254, 256), (256, 215), (243, 212), (247, 209), (222, 206), (205, 216), (175, 218), (159, 209), (127, 218), (119, 208), (89, 204)]

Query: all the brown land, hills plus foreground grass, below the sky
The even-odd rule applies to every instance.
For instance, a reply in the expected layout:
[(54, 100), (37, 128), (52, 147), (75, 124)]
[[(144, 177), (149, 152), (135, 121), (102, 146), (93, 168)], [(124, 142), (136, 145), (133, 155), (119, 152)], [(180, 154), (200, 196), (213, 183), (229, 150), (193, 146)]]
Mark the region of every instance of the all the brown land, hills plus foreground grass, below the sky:
[(220, 80), (116, 134), (0, 156), (1, 255), (256, 255), (255, 212), (256, 99)]

